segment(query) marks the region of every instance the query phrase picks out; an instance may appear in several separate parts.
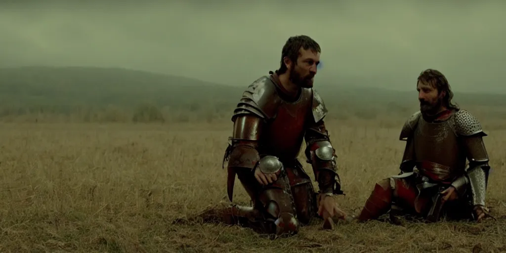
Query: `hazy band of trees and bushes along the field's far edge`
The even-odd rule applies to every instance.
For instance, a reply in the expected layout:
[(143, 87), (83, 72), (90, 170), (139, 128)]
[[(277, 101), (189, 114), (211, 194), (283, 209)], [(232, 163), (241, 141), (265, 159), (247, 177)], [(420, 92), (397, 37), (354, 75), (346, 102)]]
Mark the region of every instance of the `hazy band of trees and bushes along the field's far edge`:
[[(192, 104), (187, 108), (158, 107), (145, 103), (137, 107), (86, 106), (27, 106), (0, 108), (0, 121), (71, 121), (71, 122), (194, 122), (230, 120), (235, 104), (217, 106), (211, 104)], [(385, 107), (356, 110), (353, 108), (328, 108), (329, 119), (376, 119), (385, 115), (407, 116), (408, 110), (391, 110)]]

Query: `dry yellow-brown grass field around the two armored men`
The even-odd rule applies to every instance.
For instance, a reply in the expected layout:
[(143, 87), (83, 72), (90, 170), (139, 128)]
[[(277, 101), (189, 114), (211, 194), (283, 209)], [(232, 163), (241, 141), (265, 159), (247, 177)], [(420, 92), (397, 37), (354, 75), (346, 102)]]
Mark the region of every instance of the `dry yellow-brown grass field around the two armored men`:
[[(374, 182), (398, 172), (399, 128), (327, 125), (347, 193), (339, 201), (357, 215)], [(0, 251), (506, 251), (505, 130), (487, 131), (485, 140), (493, 167), (488, 203), (497, 222), (373, 221), (322, 231), (318, 221), (292, 238), (270, 240), (239, 227), (172, 224), (226, 200), (221, 165), (232, 126), (187, 126), (0, 125)], [(234, 198), (248, 203), (238, 182)]]

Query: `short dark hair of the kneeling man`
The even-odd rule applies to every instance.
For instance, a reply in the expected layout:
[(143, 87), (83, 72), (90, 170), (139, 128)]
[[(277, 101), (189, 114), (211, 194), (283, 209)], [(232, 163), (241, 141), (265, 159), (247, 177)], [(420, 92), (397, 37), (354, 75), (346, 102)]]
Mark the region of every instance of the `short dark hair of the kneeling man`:
[(321, 53), (320, 45), (314, 39), (307, 35), (291, 36), (286, 40), (285, 45), (281, 51), (281, 61), (279, 69), (276, 71), (278, 74), (286, 72), (287, 68), (283, 59), (288, 57), (292, 62), (296, 63), (300, 56), (300, 50), (312, 50)]

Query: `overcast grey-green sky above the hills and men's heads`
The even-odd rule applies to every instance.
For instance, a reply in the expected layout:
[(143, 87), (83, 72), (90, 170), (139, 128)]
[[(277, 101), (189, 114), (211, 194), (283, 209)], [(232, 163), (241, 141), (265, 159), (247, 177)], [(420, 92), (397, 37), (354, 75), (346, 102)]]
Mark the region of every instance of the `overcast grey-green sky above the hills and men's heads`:
[(419, 72), (436, 68), (455, 91), (506, 93), (506, 1), (69, 2), (2, 1), (0, 66), (125, 67), (247, 86), (279, 67), (289, 36), (306, 34), (322, 48), (316, 86), (358, 76), (414, 90)]

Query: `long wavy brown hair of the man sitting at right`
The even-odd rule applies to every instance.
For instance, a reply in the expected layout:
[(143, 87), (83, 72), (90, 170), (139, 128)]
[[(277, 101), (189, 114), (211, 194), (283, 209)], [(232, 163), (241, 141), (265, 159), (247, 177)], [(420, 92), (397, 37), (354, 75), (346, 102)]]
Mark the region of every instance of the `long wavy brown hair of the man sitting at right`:
[(421, 71), (416, 79), (417, 85), (418, 82), (427, 83), (433, 88), (436, 88), (438, 93), (446, 92), (446, 95), (443, 98), (443, 105), (448, 109), (459, 109), (458, 105), (451, 102), (453, 92), (451, 91), (450, 83), (440, 71), (431, 68)]

